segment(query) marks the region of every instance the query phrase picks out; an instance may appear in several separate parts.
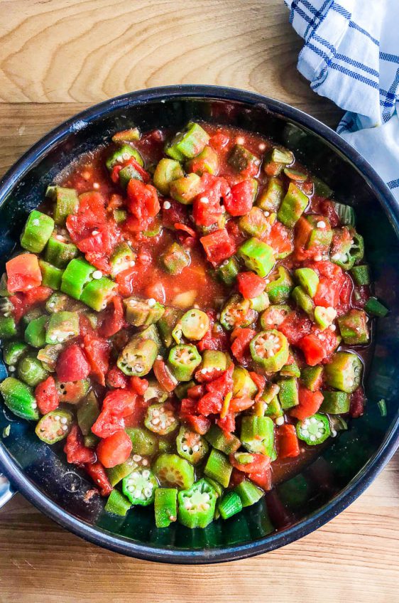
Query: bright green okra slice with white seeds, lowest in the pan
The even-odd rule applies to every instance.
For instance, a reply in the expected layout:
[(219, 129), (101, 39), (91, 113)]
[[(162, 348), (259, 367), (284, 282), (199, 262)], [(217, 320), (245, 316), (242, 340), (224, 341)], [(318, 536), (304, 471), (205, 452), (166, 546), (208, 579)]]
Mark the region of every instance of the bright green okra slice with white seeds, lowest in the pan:
[(177, 494), (177, 519), (186, 528), (206, 528), (214, 518), (217, 493), (205, 479)]

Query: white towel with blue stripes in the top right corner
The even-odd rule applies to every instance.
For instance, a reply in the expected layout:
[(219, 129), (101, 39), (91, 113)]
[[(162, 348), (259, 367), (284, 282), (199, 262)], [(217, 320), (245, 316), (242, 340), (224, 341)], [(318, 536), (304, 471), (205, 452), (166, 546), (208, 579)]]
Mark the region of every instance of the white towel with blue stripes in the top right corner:
[(399, 201), (399, 0), (285, 0), (305, 40), (297, 68), (346, 114), (338, 134)]

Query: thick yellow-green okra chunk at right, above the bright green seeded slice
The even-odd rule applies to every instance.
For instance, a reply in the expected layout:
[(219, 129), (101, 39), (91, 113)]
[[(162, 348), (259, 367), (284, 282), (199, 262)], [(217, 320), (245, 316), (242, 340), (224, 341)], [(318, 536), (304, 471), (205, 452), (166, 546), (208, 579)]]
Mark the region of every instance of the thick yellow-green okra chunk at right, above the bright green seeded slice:
[(350, 352), (336, 352), (331, 362), (324, 366), (324, 382), (330, 388), (350, 394), (359, 388), (362, 373), (363, 364), (359, 356)]

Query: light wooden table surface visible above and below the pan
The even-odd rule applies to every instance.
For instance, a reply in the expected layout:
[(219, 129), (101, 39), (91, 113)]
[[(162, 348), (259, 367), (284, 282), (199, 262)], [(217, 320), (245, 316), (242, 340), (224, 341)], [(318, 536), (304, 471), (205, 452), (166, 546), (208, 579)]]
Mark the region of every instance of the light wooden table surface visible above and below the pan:
[[(48, 129), (129, 90), (219, 84), (341, 112), (297, 73), (283, 0), (1, 0), (0, 172)], [(399, 456), (306, 538), (231, 564), (170, 567), (108, 553), (16, 496), (0, 513), (0, 602), (398, 601)]]

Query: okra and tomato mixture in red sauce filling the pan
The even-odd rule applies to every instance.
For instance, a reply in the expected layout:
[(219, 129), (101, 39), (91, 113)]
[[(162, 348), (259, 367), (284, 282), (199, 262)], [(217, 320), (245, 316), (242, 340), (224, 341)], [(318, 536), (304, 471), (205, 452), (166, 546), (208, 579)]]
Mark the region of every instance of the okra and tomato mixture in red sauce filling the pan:
[(1, 277), (6, 407), (125, 516), (204, 528), (364, 412), (354, 210), (211, 124), (117, 132), (48, 187)]

